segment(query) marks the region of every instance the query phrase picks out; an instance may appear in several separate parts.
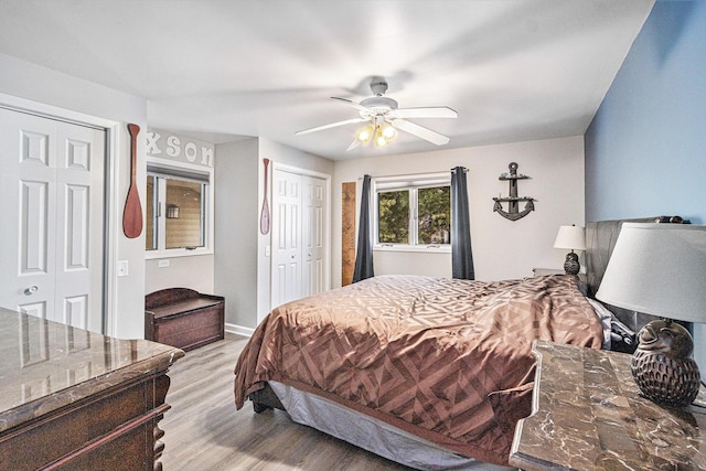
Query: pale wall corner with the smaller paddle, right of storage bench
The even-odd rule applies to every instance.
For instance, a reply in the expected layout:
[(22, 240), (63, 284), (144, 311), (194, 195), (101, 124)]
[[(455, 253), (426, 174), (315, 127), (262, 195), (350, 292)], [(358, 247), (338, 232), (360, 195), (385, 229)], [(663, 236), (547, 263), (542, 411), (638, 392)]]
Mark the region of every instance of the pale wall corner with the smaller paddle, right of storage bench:
[[(281, 163), (332, 174), (333, 162), (264, 138), (216, 144), (215, 291), (224, 296), (226, 329), (249, 333), (270, 310), (270, 234), (259, 231), (268, 172)], [(271, 185), (268, 188), (271, 204)]]

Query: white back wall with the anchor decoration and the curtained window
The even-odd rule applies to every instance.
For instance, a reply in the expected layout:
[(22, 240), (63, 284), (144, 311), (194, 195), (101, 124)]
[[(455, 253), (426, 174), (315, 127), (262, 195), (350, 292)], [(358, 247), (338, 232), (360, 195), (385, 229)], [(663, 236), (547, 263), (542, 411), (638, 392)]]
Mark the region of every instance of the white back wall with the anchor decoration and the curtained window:
[[(507, 164), (517, 162), (518, 173), (530, 180), (518, 182), (518, 195), (532, 196), (535, 211), (511, 222), (493, 212), (493, 197), (506, 196), (509, 184), (498, 176)], [(341, 184), (357, 183), (356, 204), (363, 174), (385, 176), (425, 172), (446, 172), (453, 167), (468, 169), (471, 242), (475, 278), (510, 279), (532, 276), (533, 268), (557, 268), (566, 250), (553, 248), (558, 227), (584, 225), (584, 138), (569, 137), (500, 146), (439, 150), (435, 152), (371, 157), (336, 161), (332, 206), (332, 286), (341, 285)], [(506, 205), (504, 206), (506, 208)], [(521, 208), (523, 206), (521, 205)], [(356, 229), (359, 226), (356, 215)], [(375, 274), (425, 274), (451, 276), (449, 254), (374, 254)]]

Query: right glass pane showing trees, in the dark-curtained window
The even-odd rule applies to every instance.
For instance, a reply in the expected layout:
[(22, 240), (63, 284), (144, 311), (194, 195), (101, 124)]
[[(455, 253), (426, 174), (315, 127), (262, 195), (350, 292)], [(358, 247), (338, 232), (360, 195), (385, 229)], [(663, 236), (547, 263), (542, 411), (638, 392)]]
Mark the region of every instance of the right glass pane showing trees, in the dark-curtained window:
[(417, 191), (418, 244), (449, 244), (451, 233), (451, 188)]

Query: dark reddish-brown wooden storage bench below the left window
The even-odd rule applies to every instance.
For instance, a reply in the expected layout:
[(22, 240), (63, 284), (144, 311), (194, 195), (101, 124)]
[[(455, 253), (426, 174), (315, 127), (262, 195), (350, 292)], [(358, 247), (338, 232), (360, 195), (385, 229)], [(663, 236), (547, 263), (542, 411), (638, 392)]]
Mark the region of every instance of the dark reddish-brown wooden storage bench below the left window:
[(189, 288), (145, 297), (145, 338), (192, 350), (224, 338), (225, 298)]

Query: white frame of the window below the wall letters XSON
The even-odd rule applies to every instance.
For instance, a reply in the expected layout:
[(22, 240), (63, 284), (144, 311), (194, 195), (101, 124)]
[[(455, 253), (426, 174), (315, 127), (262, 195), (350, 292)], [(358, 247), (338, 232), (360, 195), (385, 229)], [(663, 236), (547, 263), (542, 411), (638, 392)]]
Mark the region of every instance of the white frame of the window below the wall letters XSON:
[[(145, 195), (146, 206), (149, 204), (156, 204), (153, 206), (154, 218), (157, 220), (157, 248), (148, 250), (145, 248), (145, 258), (158, 259), (158, 258), (173, 258), (173, 257), (191, 257), (199, 255), (212, 255), (214, 253), (214, 178), (213, 168), (204, 165), (195, 165), (191, 163), (174, 162), (167, 159), (160, 159), (156, 157), (147, 158), (147, 176), (156, 176), (160, 180), (182, 180), (182, 181), (197, 181), (206, 184), (202, 201), (203, 207), (203, 247), (186, 248), (175, 247), (167, 248), (167, 199), (165, 190), (167, 185), (157, 185), (158, 191), (154, 194), (152, 201), (147, 201), (147, 181), (145, 182)], [(163, 186), (163, 189), (160, 189)], [(161, 207), (160, 207), (161, 206)], [(160, 211), (161, 210), (161, 211)], [(146, 221), (146, 225), (149, 221)], [(146, 231), (147, 233), (147, 231)], [(146, 234), (147, 237), (147, 234)], [(147, 246), (147, 243), (145, 244)]]

